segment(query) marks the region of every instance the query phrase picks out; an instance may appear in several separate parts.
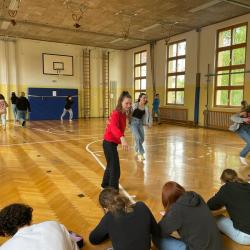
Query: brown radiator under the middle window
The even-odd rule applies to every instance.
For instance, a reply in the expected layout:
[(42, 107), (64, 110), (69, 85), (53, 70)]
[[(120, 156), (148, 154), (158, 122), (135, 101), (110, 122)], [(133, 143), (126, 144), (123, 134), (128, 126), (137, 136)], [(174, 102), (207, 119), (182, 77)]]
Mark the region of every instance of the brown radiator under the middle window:
[(178, 122), (187, 122), (188, 121), (188, 110), (180, 108), (160, 108), (161, 120), (170, 120)]

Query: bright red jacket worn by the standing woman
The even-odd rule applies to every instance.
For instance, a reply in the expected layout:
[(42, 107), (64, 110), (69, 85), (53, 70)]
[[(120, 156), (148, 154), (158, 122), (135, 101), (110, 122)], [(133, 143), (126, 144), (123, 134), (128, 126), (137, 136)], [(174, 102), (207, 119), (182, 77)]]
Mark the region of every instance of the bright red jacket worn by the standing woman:
[(109, 117), (108, 125), (104, 134), (104, 140), (121, 144), (120, 138), (124, 136), (126, 119), (126, 113), (114, 110)]

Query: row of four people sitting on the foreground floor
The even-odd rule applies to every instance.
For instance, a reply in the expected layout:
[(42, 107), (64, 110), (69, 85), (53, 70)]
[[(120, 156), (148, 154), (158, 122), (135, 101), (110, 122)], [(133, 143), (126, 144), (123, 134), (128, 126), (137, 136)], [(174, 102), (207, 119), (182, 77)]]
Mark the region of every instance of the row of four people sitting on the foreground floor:
[[(162, 188), (164, 214), (159, 223), (147, 205), (129, 199), (113, 188), (103, 189), (99, 203), (104, 210), (90, 243), (108, 239), (114, 250), (149, 250), (151, 240), (162, 250), (222, 250), (221, 231), (233, 241), (250, 245), (250, 184), (232, 169), (221, 175), (220, 190), (206, 203), (176, 182)], [(229, 216), (213, 216), (211, 210), (225, 207)], [(0, 211), (0, 234), (10, 236), (1, 250), (76, 250), (76, 239), (57, 222), (33, 224), (32, 208), (12, 204)], [(177, 231), (180, 238), (172, 233)]]

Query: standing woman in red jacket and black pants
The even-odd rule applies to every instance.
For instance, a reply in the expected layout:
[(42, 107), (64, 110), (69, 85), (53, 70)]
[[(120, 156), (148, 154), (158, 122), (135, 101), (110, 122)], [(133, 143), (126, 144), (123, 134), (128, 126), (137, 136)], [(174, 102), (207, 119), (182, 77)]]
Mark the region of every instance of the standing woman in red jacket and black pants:
[(132, 98), (127, 91), (123, 91), (118, 99), (116, 109), (109, 117), (104, 134), (103, 150), (107, 161), (101, 186), (119, 189), (120, 162), (117, 146), (122, 144), (123, 150), (128, 150), (128, 143), (124, 137), (127, 117), (131, 114)]

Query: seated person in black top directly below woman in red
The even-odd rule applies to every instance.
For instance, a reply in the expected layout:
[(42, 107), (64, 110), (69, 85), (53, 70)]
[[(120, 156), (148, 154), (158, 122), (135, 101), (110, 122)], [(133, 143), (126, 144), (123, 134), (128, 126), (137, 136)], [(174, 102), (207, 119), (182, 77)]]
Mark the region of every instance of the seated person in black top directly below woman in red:
[(92, 244), (111, 239), (114, 250), (150, 250), (152, 238), (158, 245), (160, 228), (143, 202), (131, 204), (118, 190), (107, 188), (100, 193), (99, 203), (105, 215), (89, 235)]

